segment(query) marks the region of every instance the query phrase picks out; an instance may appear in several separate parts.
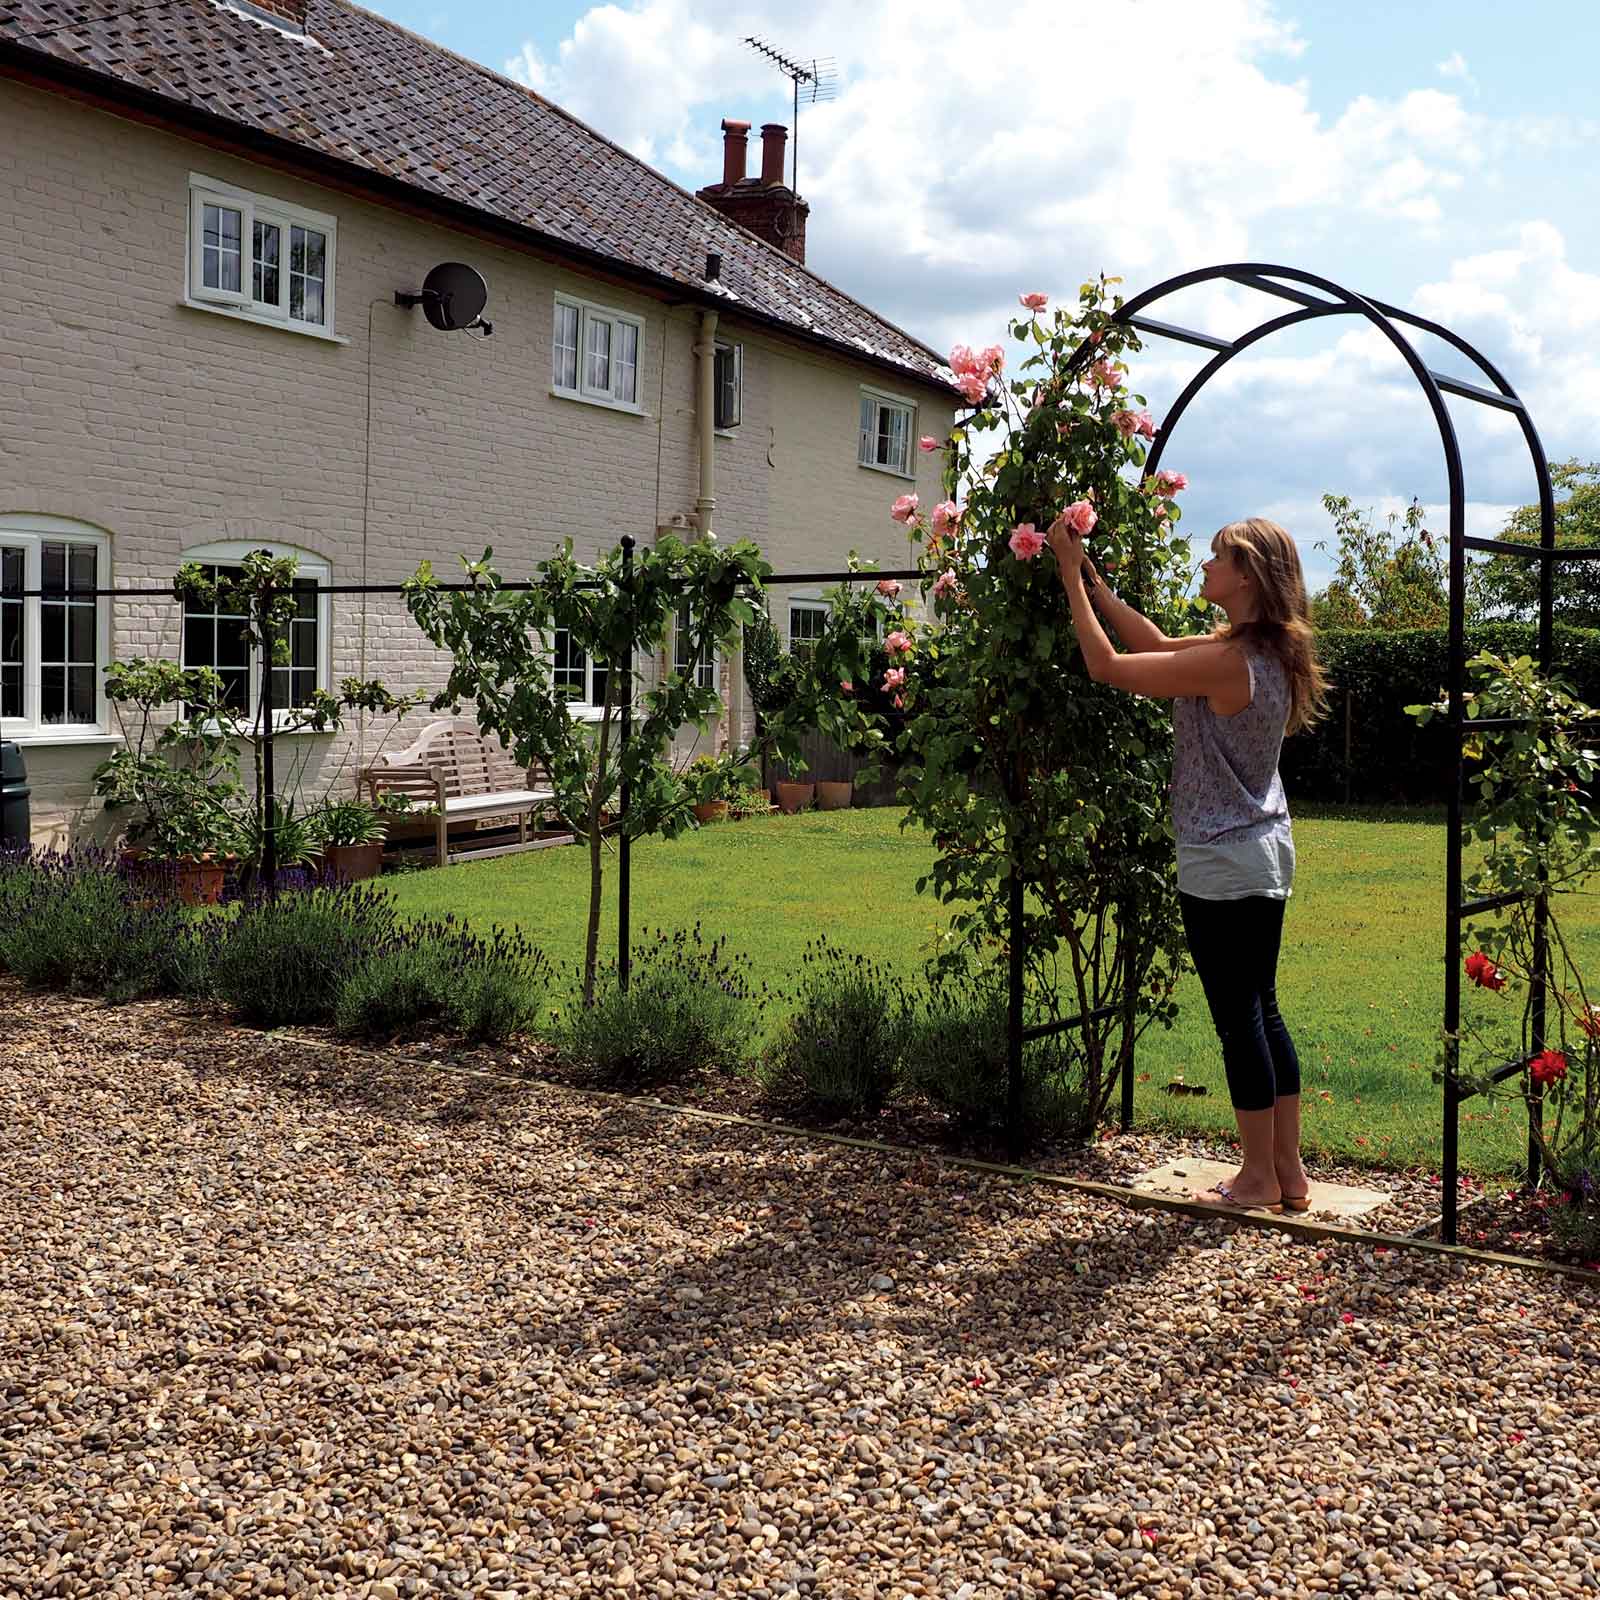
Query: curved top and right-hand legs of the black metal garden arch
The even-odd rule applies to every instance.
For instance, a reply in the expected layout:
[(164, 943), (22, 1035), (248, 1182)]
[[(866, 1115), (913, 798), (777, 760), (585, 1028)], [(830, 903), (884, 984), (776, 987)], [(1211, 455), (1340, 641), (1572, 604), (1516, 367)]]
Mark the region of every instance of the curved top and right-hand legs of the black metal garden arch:
[[(1242, 288), (1259, 290), (1278, 299), (1290, 301), (1296, 309), (1269, 317), (1250, 333), (1237, 339), (1219, 339), (1208, 333), (1197, 333), (1192, 328), (1181, 328), (1173, 323), (1157, 322), (1146, 315), (1146, 307), (1165, 299), (1179, 290), (1194, 288), (1198, 283), (1237, 283)], [(1445, 470), (1450, 483), (1450, 682), (1448, 682), (1448, 718), (1454, 755), (1454, 781), (1450, 787), (1448, 840), (1445, 853), (1445, 1130), (1443, 1130), (1443, 1214), (1440, 1232), (1445, 1243), (1456, 1242), (1458, 1219), (1458, 1178), (1459, 1178), (1459, 1117), (1461, 1104), (1469, 1099), (1472, 1090), (1462, 1090), (1459, 1082), (1459, 1042), (1456, 1032), (1461, 1026), (1461, 925), (1466, 918), (1512, 904), (1520, 896), (1496, 896), (1491, 899), (1462, 901), (1461, 898), (1461, 821), (1464, 800), (1464, 746), (1467, 738), (1462, 680), (1466, 677), (1466, 574), (1467, 550), (1483, 550), (1493, 555), (1517, 555), (1538, 560), (1539, 566), (1539, 666), (1549, 669), (1552, 659), (1552, 608), (1554, 578), (1552, 563), (1557, 557), (1595, 557), (1600, 549), (1557, 550), (1555, 549), (1555, 498), (1550, 488), (1550, 470), (1544, 458), (1544, 446), (1533, 426), (1528, 408), (1518, 398), (1515, 389), (1506, 381), (1501, 371), (1478, 350), (1475, 350), (1459, 334), (1426, 317), (1402, 310), (1397, 306), (1386, 306), (1382, 301), (1368, 299), (1350, 290), (1341, 288), (1328, 278), (1312, 272), (1301, 272), (1294, 267), (1266, 266), (1261, 262), (1232, 262), (1219, 267), (1203, 267), (1197, 272), (1184, 272), (1166, 278), (1154, 288), (1136, 294), (1118, 312), (1117, 320), (1165, 339), (1178, 339), (1184, 344), (1197, 344), (1213, 350), (1213, 357), (1189, 381), (1162, 424), (1150, 450), (1146, 472), (1155, 472), (1162, 454), (1173, 437), (1173, 429), (1189, 408), (1190, 402), (1235, 355), (1243, 354), (1251, 346), (1274, 333), (1294, 328), (1301, 323), (1315, 322), (1320, 317), (1365, 317), (1378, 328), (1400, 354), (1400, 358), (1411, 370), (1438, 424), (1440, 443), (1445, 448)], [(1411, 341), (1402, 333), (1402, 325), (1419, 333), (1442, 339), (1477, 366), (1478, 373), (1488, 379), (1490, 387), (1451, 378), (1448, 373), (1434, 371), (1418, 355)], [(1456, 429), (1445, 406), (1445, 395), (1461, 400), (1472, 400), (1478, 405), (1496, 406), (1517, 418), (1522, 427), (1528, 454), (1533, 459), (1534, 477), (1539, 485), (1539, 544), (1522, 546), (1502, 539), (1467, 538), (1466, 533), (1466, 488), (1461, 469), (1461, 446), (1456, 442)], [(1509, 726), (1515, 718), (1482, 718), (1474, 722), (1472, 730), (1490, 730)], [(1539, 891), (1534, 896), (1534, 971), (1531, 992), (1531, 1045), (1533, 1054), (1544, 1048), (1546, 990), (1549, 986), (1549, 942), (1547, 942), (1549, 894)], [(1528, 1056), (1507, 1061), (1494, 1074), (1494, 1082), (1504, 1082), (1526, 1072)], [(1530, 1182), (1538, 1174), (1539, 1144), (1536, 1128), (1541, 1117), (1539, 1093), (1530, 1104), (1528, 1126), (1528, 1176)]]

